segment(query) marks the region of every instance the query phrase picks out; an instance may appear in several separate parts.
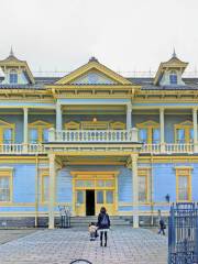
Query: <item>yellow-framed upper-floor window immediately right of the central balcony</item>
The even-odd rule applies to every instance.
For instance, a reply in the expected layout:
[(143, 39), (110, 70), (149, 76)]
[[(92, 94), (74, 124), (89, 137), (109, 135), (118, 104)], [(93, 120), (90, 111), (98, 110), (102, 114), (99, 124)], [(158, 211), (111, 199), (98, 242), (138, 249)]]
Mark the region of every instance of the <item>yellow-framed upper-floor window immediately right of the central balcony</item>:
[(160, 125), (154, 121), (146, 121), (144, 123), (139, 123), (139, 138), (140, 141), (147, 144), (158, 144), (160, 143)]

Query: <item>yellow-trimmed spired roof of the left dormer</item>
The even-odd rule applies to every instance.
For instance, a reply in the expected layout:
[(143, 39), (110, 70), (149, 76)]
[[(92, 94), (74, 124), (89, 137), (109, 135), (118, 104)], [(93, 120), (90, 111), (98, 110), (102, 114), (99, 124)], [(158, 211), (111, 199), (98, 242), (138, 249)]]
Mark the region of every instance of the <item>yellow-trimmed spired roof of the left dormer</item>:
[(11, 67), (21, 68), (25, 76), (29, 78), (30, 84), (35, 84), (34, 77), (32, 75), (31, 69), (29, 68), (26, 61), (20, 61), (19, 58), (16, 58), (13, 54), (12, 48), (10, 51), (10, 55), (6, 59), (0, 61), (0, 67), (2, 68), (3, 72), (6, 68)]

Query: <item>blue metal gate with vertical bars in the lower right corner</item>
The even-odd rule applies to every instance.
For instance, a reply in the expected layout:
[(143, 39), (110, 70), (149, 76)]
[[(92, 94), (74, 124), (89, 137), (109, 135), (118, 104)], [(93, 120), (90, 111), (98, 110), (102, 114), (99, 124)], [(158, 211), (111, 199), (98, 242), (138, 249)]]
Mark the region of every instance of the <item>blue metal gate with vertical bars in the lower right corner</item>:
[(198, 264), (198, 204), (173, 204), (168, 219), (168, 264)]

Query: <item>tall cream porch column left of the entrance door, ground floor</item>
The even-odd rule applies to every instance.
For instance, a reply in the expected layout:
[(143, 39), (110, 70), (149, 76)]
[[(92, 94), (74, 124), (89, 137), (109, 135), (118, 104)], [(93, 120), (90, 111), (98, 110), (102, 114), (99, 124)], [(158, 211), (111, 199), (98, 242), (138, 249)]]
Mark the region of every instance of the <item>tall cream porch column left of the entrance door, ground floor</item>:
[(50, 196), (48, 196), (48, 229), (54, 229), (55, 204), (55, 154), (48, 155), (50, 162)]

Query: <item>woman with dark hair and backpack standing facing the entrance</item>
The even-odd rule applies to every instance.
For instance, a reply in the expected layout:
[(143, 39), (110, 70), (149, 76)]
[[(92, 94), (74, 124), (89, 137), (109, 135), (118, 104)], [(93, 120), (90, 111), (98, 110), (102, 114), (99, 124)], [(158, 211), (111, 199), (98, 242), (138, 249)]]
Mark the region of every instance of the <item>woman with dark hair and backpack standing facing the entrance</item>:
[(105, 207), (101, 207), (100, 213), (98, 216), (98, 229), (100, 231), (100, 246), (102, 246), (103, 235), (105, 235), (105, 246), (107, 246), (107, 233), (110, 228), (110, 219)]

